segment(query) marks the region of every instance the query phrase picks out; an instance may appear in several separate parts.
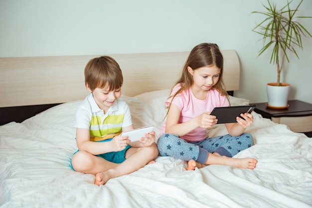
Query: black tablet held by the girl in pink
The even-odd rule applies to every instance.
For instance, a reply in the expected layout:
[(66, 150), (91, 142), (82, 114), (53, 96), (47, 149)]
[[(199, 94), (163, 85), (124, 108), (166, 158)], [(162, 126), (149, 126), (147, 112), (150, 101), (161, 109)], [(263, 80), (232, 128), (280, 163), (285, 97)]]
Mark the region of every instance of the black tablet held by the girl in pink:
[(242, 105), (242, 106), (229, 106), (229, 107), (215, 107), (210, 115), (215, 115), (218, 119), (217, 123), (236, 123), (236, 117), (241, 113), (251, 113), (256, 105)]

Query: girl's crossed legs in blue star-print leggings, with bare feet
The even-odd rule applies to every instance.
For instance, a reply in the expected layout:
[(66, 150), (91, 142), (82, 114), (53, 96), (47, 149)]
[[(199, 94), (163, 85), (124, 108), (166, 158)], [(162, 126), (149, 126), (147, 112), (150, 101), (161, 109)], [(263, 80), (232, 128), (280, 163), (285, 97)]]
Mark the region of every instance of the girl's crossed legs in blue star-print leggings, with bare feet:
[(254, 158), (232, 158), (235, 154), (253, 145), (251, 134), (232, 137), (229, 134), (207, 138), (199, 142), (186, 142), (173, 134), (162, 134), (157, 142), (161, 156), (173, 156), (188, 161), (187, 170), (206, 165), (230, 165), (254, 169), (258, 162)]

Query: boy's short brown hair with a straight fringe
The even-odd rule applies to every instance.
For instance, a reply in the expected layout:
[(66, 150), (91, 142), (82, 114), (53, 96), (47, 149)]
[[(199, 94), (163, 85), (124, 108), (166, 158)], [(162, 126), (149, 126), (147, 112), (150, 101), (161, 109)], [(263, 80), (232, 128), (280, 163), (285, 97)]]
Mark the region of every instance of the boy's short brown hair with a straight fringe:
[(101, 56), (91, 59), (85, 67), (85, 84), (91, 89), (103, 89), (108, 91), (120, 89), (124, 78), (119, 64), (109, 56)]

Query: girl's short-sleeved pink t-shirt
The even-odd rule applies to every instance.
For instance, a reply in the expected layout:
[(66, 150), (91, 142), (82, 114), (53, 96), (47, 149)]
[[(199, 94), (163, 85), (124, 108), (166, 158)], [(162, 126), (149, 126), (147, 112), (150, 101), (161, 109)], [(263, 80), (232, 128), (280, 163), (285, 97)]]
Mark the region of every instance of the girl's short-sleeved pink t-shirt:
[[(171, 95), (174, 95), (181, 88), (181, 84), (174, 86)], [(169, 106), (172, 98), (168, 98), (165, 104)], [(211, 112), (214, 107), (229, 106), (229, 101), (226, 96), (221, 96), (216, 89), (207, 91), (207, 98), (205, 100), (197, 99), (191, 88), (180, 92), (176, 95), (172, 101), (172, 104), (176, 105), (180, 110), (179, 123), (186, 122), (203, 112)], [(161, 126), (160, 134), (165, 133), (165, 123)], [(207, 129), (197, 127), (191, 132), (181, 136), (186, 141), (201, 141), (207, 137)]]

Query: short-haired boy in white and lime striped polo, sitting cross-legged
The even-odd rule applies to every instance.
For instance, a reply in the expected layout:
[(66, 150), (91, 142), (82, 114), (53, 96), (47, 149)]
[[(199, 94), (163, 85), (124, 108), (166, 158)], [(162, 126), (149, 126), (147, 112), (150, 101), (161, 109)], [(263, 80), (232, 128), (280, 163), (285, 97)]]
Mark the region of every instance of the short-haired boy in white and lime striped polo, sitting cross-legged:
[(95, 175), (100, 186), (155, 162), (155, 131), (135, 142), (120, 135), (134, 126), (128, 105), (118, 100), (123, 85), (118, 63), (109, 56), (91, 59), (85, 67), (85, 85), (91, 94), (76, 111), (78, 150), (72, 157), (73, 169)]

